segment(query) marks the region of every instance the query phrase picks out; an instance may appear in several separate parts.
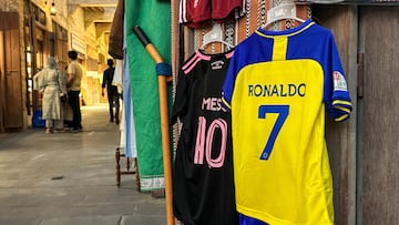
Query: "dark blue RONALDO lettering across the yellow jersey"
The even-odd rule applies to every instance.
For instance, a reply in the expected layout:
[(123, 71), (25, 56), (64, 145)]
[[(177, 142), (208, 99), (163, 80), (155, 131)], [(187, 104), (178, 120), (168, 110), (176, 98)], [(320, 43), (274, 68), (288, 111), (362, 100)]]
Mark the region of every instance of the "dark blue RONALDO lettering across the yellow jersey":
[(305, 96), (305, 83), (248, 85), (248, 96)]

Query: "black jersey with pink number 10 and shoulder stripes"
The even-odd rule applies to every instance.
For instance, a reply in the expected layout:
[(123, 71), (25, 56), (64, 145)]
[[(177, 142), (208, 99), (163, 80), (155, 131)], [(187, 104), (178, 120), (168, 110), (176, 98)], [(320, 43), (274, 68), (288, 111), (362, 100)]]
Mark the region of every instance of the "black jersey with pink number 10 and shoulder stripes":
[(233, 183), (231, 114), (222, 85), (233, 51), (196, 51), (177, 80), (172, 121), (182, 122), (173, 166), (173, 207), (186, 225), (238, 224)]

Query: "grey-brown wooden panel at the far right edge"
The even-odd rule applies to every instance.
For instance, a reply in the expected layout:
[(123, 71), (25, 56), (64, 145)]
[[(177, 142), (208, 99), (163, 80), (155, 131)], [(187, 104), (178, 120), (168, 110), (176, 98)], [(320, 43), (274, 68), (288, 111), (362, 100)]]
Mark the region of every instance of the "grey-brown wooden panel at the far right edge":
[[(361, 7), (358, 224), (399, 224), (399, 7)], [(360, 34), (361, 34), (360, 33)]]

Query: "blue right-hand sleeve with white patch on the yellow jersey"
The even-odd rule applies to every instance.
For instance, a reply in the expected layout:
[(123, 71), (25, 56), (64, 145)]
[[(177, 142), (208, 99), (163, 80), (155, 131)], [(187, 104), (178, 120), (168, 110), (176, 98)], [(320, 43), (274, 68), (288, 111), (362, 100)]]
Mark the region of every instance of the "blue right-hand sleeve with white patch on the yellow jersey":
[(329, 40), (328, 64), (325, 68), (325, 103), (335, 121), (349, 119), (352, 106), (348, 84), (332, 34)]

